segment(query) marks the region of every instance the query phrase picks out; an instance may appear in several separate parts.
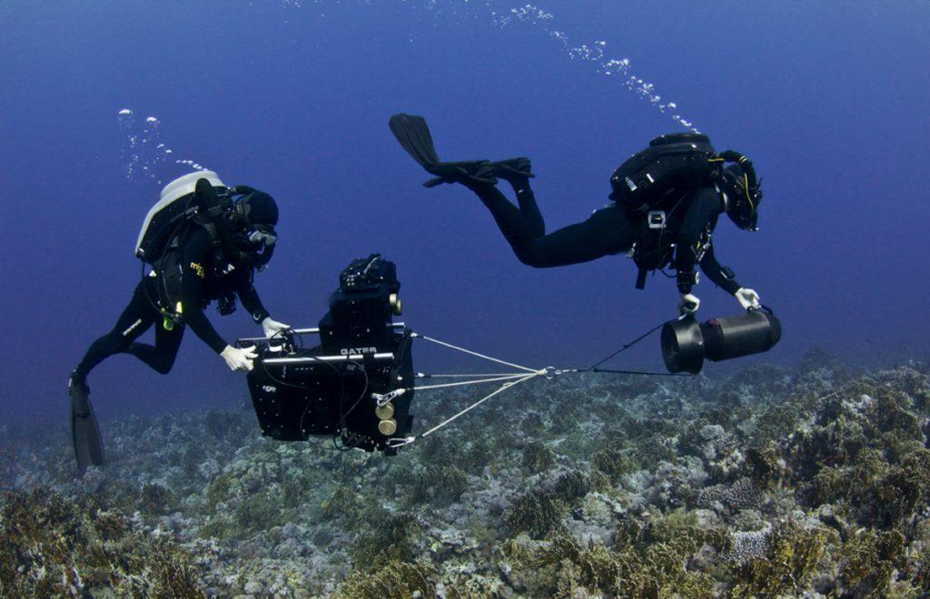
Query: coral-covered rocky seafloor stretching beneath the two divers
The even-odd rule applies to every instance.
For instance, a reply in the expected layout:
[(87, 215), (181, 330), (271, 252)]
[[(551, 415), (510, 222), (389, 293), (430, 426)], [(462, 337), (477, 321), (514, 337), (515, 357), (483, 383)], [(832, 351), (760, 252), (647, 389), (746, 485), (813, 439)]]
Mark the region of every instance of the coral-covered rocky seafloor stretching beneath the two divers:
[[(469, 392), (417, 397), (420, 430)], [(247, 405), (0, 428), (3, 596), (930, 592), (930, 374), (823, 352), (720, 380), (539, 380), (385, 458)]]

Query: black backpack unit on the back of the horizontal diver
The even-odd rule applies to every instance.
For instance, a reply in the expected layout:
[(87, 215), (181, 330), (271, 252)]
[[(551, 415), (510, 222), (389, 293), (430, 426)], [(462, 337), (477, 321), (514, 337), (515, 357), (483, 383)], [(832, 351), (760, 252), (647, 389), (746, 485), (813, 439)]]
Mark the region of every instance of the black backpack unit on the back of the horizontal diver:
[(630, 212), (645, 214), (719, 176), (720, 161), (711, 160), (716, 155), (711, 138), (699, 133), (656, 137), (614, 171), (610, 199)]

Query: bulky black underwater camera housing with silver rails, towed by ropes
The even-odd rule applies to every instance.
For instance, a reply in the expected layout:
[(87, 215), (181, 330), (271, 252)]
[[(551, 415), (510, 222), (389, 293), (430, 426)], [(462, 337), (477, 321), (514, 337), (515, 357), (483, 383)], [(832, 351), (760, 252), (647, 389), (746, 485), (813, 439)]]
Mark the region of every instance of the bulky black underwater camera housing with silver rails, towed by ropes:
[[(414, 371), (394, 264), (379, 254), (352, 261), (316, 329), (297, 329), (257, 345), (248, 389), (261, 431), (279, 441), (334, 436), (343, 448), (379, 449), (410, 430)], [(305, 335), (320, 345), (305, 349)]]

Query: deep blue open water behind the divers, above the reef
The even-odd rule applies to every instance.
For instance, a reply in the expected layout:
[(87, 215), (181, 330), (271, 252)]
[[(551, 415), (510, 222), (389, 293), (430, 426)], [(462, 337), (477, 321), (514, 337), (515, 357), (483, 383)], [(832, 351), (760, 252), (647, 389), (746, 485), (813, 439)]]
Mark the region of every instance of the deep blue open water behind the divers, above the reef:
[[(420, 187), (387, 128), (409, 111), (447, 159), (530, 156), (551, 230), (604, 205), (618, 163), (680, 128), (670, 113), (570, 59), (540, 24), (425, 4), (0, 4), (0, 418), (63, 421), (68, 372), (139, 279), (132, 247), (160, 186), (125, 176), (123, 108), (157, 116), (178, 157), (277, 198), (280, 246), (258, 277), (276, 319), (312, 326), (339, 270), (370, 252), (397, 263), (417, 330), (533, 366), (590, 363), (671, 318), (673, 282), (636, 291), (621, 256), (521, 265), (469, 191)], [(604, 40), (631, 59), (764, 176), (762, 230), (724, 218), (714, 237), (785, 324), (776, 350), (743, 364), (790, 364), (813, 345), (864, 362), (926, 356), (930, 5), (540, 7), (571, 43)], [(697, 293), (704, 317), (737, 313), (711, 283)], [(209, 315), (227, 338), (255, 333), (242, 310)], [(661, 368), (658, 339), (631, 354), (619, 363)], [(432, 347), (417, 358), (466, 366)], [(90, 383), (101, 416), (246, 397), (244, 377), (190, 332), (170, 376), (116, 357)]]

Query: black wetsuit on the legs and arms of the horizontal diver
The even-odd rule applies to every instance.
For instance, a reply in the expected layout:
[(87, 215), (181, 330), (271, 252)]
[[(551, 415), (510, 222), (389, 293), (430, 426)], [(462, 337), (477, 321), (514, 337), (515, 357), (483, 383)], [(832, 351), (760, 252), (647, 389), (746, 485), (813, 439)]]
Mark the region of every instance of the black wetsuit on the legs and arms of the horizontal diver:
[[(513, 253), (530, 267), (562, 267), (627, 252), (640, 240), (646, 228), (644, 218), (633, 217), (611, 204), (594, 211), (588, 220), (546, 235), (529, 180), (514, 180), (512, 187), (519, 208), (495, 186), (469, 185), (491, 211)], [(717, 262), (711, 245), (711, 232), (723, 212), (724, 202), (713, 186), (689, 193), (669, 211), (667, 230), (671, 233), (667, 241), (675, 243), (672, 266), (680, 275), (693, 273), (695, 265), (699, 264), (708, 279), (732, 294), (740, 285), (732, 272)], [(691, 292), (694, 283), (687, 279), (679, 276), (679, 292)]]

